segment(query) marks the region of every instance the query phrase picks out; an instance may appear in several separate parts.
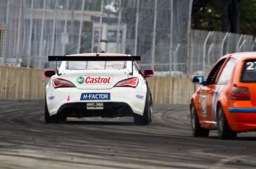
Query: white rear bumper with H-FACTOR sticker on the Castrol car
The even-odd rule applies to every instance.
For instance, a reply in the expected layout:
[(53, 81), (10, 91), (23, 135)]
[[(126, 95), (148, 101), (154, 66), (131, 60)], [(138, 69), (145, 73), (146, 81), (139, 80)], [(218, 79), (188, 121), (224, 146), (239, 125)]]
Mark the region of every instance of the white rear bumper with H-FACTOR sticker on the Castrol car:
[[(87, 94), (88, 97), (85, 97)], [(90, 97), (94, 94), (95, 97)], [(106, 96), (107, 94), (108, 96)], [(137, 96), (140, 97), (137, 97)], [(106, 99), (108, 97), (108, 99)], [(94, 100), (92, 100), (94, 98)], [(96, 99), (98, 98), (98, 99)], [(65, 109), (77, 112), (86, 112), (86, 114), (97, 114), (99, 112), (109, 112), (109, 114), (117, 114), (122, 111), (122, 114), (131, 108), (131, 112), (135, 114), (143, 114), (146, 100), (146, 92), (138, 92), (134, 88), (113, 88), (108, 90), (81, 90), (76, 88), (56, 89), (46, 93), (47, 108), (50, 116), (62, 113)], [(87, 103), (103, 103), (103, 110), (87, 110)], [(120, 107), (122, 107), (120, 109)], [(85, 113), (84, 113), (85, 114)], [(88, 117), (90, 117), (88, 115)], [(93, 116), (96, 117), (96, 116)]]

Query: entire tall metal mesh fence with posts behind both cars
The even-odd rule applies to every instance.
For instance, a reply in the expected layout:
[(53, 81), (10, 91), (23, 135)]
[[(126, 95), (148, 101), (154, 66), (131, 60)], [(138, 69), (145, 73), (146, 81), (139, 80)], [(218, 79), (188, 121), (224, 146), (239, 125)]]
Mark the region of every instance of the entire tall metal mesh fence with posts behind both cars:
[[(156, 75), (209, 72), (255, 38), (191, 30), (192, 0), (0, 0), (0, 64), (46, 68), (48, 55), (120, 52), (142, 56)], [(53, 66), (53, 65), (50, 65)]]

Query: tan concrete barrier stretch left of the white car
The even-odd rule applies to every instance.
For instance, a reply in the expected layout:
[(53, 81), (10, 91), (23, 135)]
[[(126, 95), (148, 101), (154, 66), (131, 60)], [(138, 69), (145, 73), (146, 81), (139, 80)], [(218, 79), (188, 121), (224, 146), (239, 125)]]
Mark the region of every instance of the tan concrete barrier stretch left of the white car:
[(42, 101), (49, 79), (44, 69), (0, 66), (0, 100)]

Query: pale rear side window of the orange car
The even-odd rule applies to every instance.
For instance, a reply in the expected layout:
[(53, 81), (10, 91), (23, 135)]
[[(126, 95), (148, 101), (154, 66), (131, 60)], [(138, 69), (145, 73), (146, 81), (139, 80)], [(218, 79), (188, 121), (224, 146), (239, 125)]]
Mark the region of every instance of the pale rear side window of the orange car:
[(228, 63), (226, 63), (226, 66), (223, 69), (223, 72), (221, 72), (220, 79), (217, 84), (223, 85), (229, 82), (236, 61), (237, 60), (235, 60), (234, 58), (229, 59)]

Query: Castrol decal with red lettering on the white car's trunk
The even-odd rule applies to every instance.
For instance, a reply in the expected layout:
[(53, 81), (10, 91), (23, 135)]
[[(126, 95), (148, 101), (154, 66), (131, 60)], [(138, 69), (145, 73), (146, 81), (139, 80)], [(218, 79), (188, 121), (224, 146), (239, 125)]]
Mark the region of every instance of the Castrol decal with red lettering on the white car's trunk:
[(76, 83), (79, 85), (110, 85), (112, 83), (113, 76), (79, 76), (76, 78)]

